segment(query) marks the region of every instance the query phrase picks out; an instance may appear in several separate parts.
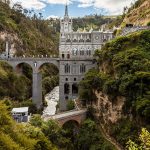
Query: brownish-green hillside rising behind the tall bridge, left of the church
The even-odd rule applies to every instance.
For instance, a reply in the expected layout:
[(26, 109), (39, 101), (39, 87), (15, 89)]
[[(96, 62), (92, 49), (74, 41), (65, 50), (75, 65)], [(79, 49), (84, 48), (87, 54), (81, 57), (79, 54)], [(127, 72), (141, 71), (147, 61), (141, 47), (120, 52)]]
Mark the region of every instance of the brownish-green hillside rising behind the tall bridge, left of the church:
[[(35, 14), (19, 4), (11, 9), (0, 1), (0, 32), (0, 35), (5, 32), (10, 36), (11, 44), (15, 43), (16, 55), (58, 53), (58, 32), (49, 26), (49, 21), (44, 20), (41, 13)], [(0, 51), (4, 50), (4, 45), (0, 47)]]

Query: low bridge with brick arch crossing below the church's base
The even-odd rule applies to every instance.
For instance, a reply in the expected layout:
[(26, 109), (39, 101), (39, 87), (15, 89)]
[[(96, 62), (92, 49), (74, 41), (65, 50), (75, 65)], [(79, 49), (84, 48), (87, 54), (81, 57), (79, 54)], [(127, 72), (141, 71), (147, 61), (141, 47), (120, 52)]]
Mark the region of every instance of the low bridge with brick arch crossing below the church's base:
[(87, 113), (86, 109), (75, 110), (75, 111), (64, 112), (61, 114), (56, 114), (53, 116), (43, 116), (42, 118), (44, 119), (44, 121), (48, 121), (51, 119), (57, 120), (61, 126), (63, 126), (68, 121), (76, 121), (80, 125), (81, 122), (86, 119), (86, 113)]

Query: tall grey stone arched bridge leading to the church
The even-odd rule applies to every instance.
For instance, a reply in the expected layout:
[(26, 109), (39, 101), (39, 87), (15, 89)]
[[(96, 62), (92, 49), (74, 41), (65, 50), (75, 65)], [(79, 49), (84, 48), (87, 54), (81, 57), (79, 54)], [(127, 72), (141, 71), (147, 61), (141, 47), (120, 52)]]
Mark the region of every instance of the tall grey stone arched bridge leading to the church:
[(59, 58), (7, 58), (0, 59), (0, 61), (6, 61), (10, 64), (14, 70), (17, 70), (17, 66), (22, 63), (26, 63), (32, 68), (32, 101), (40, 108), (42, 106), (42, 76), (40, 74), (40, 67), (43, 64), (49, 63), (55, 65), (59, 70)]

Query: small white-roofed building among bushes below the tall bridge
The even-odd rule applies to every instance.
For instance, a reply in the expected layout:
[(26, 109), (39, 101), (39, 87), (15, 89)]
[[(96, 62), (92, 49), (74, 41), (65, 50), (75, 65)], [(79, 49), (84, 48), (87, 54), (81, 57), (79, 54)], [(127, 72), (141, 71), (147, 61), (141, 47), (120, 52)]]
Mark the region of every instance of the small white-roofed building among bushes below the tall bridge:
[(17, 122), (28, 122), (28, 111), (29, 107), (20, 107), (20, 108), (13, 108), (11, 113)]

